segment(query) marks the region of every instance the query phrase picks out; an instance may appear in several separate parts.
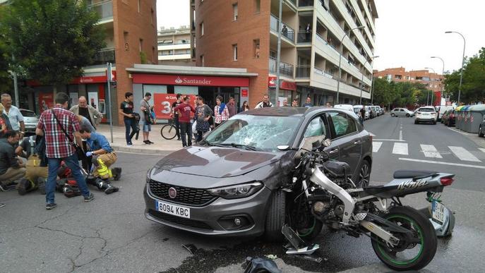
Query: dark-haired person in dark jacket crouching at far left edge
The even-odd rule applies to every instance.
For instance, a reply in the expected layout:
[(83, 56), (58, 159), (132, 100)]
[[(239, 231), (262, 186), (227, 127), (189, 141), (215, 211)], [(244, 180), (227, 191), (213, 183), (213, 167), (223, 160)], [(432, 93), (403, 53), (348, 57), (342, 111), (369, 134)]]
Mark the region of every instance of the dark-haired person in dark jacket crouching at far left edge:
[(7, 131), (0, 139), (0, 190), (6, 191), (14, 181), (25, 176), (25, 164), (15, 154), (18, 133)]

